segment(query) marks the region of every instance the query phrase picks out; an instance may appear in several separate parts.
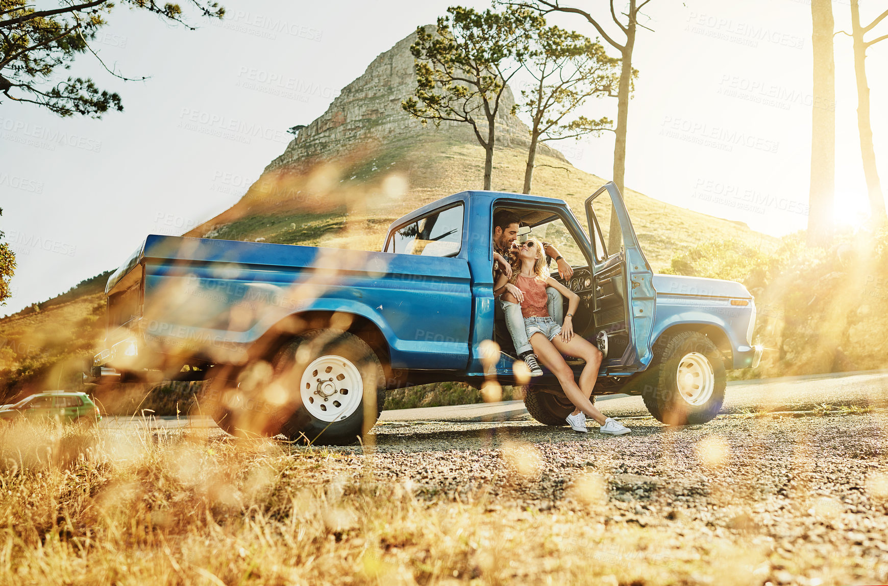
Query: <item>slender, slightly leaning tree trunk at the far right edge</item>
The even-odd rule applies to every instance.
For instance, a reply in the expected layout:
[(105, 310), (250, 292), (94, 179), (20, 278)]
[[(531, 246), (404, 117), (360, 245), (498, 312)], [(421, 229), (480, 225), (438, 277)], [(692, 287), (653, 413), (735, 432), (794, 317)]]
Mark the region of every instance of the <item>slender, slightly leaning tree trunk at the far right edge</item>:
[(869, 122), (869, 87), (867, 85), (867, 46), (863, 42), (860, 27), (860, 5), (851, 0), (851, 35), (854, 46), (854, 74), (857, 78), (857, 127), (860, 133), (860, 156), (863, 159), (863, 175), (867, 178), (869, 209), (877, 224), (884, 224), (885, 201), (879, 174), (876, 169), (876, 149), (873, 147), (873, 128)]

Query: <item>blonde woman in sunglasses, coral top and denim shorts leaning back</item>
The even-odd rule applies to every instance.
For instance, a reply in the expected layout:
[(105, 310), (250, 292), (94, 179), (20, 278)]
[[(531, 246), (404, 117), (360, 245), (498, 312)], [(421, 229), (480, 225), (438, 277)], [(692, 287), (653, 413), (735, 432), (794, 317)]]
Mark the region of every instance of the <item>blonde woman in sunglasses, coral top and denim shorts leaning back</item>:
[[(503, 287), (507, 281), (524, 294), (520, 303), (521, 314), (524, 316), (527, 338), (535, 354), (543, 366), (558, 377), (567, 399), (574, 404), (574, 412), (567, 416), (567, 424), (570, 424), (575, 432), (588, 432), (586, 416), (590, 416), (601, 425), (599, 428), (601, 433), (609, 435), (629, 433), (628, 428), (602, 415), (589, 400), (599, 376), (601, 352), (583, 337), (575, 335), (573, 318), (576, 308), (580, 305), (580, 296), (549, 276), (542, 242), (535, 238), (524, 242), (518, 249), (518, 259), (511, 278), (501, 273), (494, 288)], [(546, 308), (549, 300), (546, 295), (547, 287), (558, 289), (559, 293), (568, 299), (567, 314), (560, 326), (549, 316)], [(518, 302), (511, 291), (503, 293), (503, 301)], [(575, 382), (574, 371), (567, 365), (562, 354), (586, 361), (583, 373), (580, 374), (579, 384)]]

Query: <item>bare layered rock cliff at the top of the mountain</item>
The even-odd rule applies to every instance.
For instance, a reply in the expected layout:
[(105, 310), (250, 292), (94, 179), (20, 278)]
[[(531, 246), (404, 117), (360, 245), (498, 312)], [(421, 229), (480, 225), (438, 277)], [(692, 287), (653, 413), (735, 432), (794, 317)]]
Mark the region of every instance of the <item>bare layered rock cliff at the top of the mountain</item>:
[[(410, 53), (410, 45), (415, 41), (416, 33), (411, 33), (373, 59), (363, 75), (346, 85), (323, 115), (298, 131), (297, 138), (266, 167), (266, 172), (423, 133), (443, 133), (478, 144), (469, 124), (441, 123), (436, 129), (430, 123), (424, 127), (401, 109), (401, 101), (416, 89), (414, 58)], [(514, 103), (507, 87), (496, 120), (496, 147), (530, 146), (527, 125), (511, 115)], [(564, 160), (562, 154), (545, 145), (538, 152)]]

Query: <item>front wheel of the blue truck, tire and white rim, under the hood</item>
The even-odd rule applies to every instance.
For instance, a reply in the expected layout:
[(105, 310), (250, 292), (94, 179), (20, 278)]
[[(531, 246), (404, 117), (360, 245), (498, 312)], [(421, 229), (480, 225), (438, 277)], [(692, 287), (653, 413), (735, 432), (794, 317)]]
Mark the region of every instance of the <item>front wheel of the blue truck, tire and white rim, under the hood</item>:
[(725, 402), (725, 363), (709, 337), (681, 332), (654, 344), (641, 396), (664, 424), (705, 424)]

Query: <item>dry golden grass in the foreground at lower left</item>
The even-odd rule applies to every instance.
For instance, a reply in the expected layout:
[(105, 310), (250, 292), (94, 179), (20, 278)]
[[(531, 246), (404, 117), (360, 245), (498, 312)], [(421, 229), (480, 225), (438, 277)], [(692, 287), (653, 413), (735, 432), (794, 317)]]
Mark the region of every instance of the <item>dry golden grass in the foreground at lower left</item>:
[[(505, 448), (514, 468), (526, 451)], [(23, 423), (0, 430), (0, 452), (3, 583), (751, 584), (766, 553), (606, 531), (597, 477), (576, 479), (570, 507), (537, 511), (379, 483), (360, 451), (194, 432)]]

